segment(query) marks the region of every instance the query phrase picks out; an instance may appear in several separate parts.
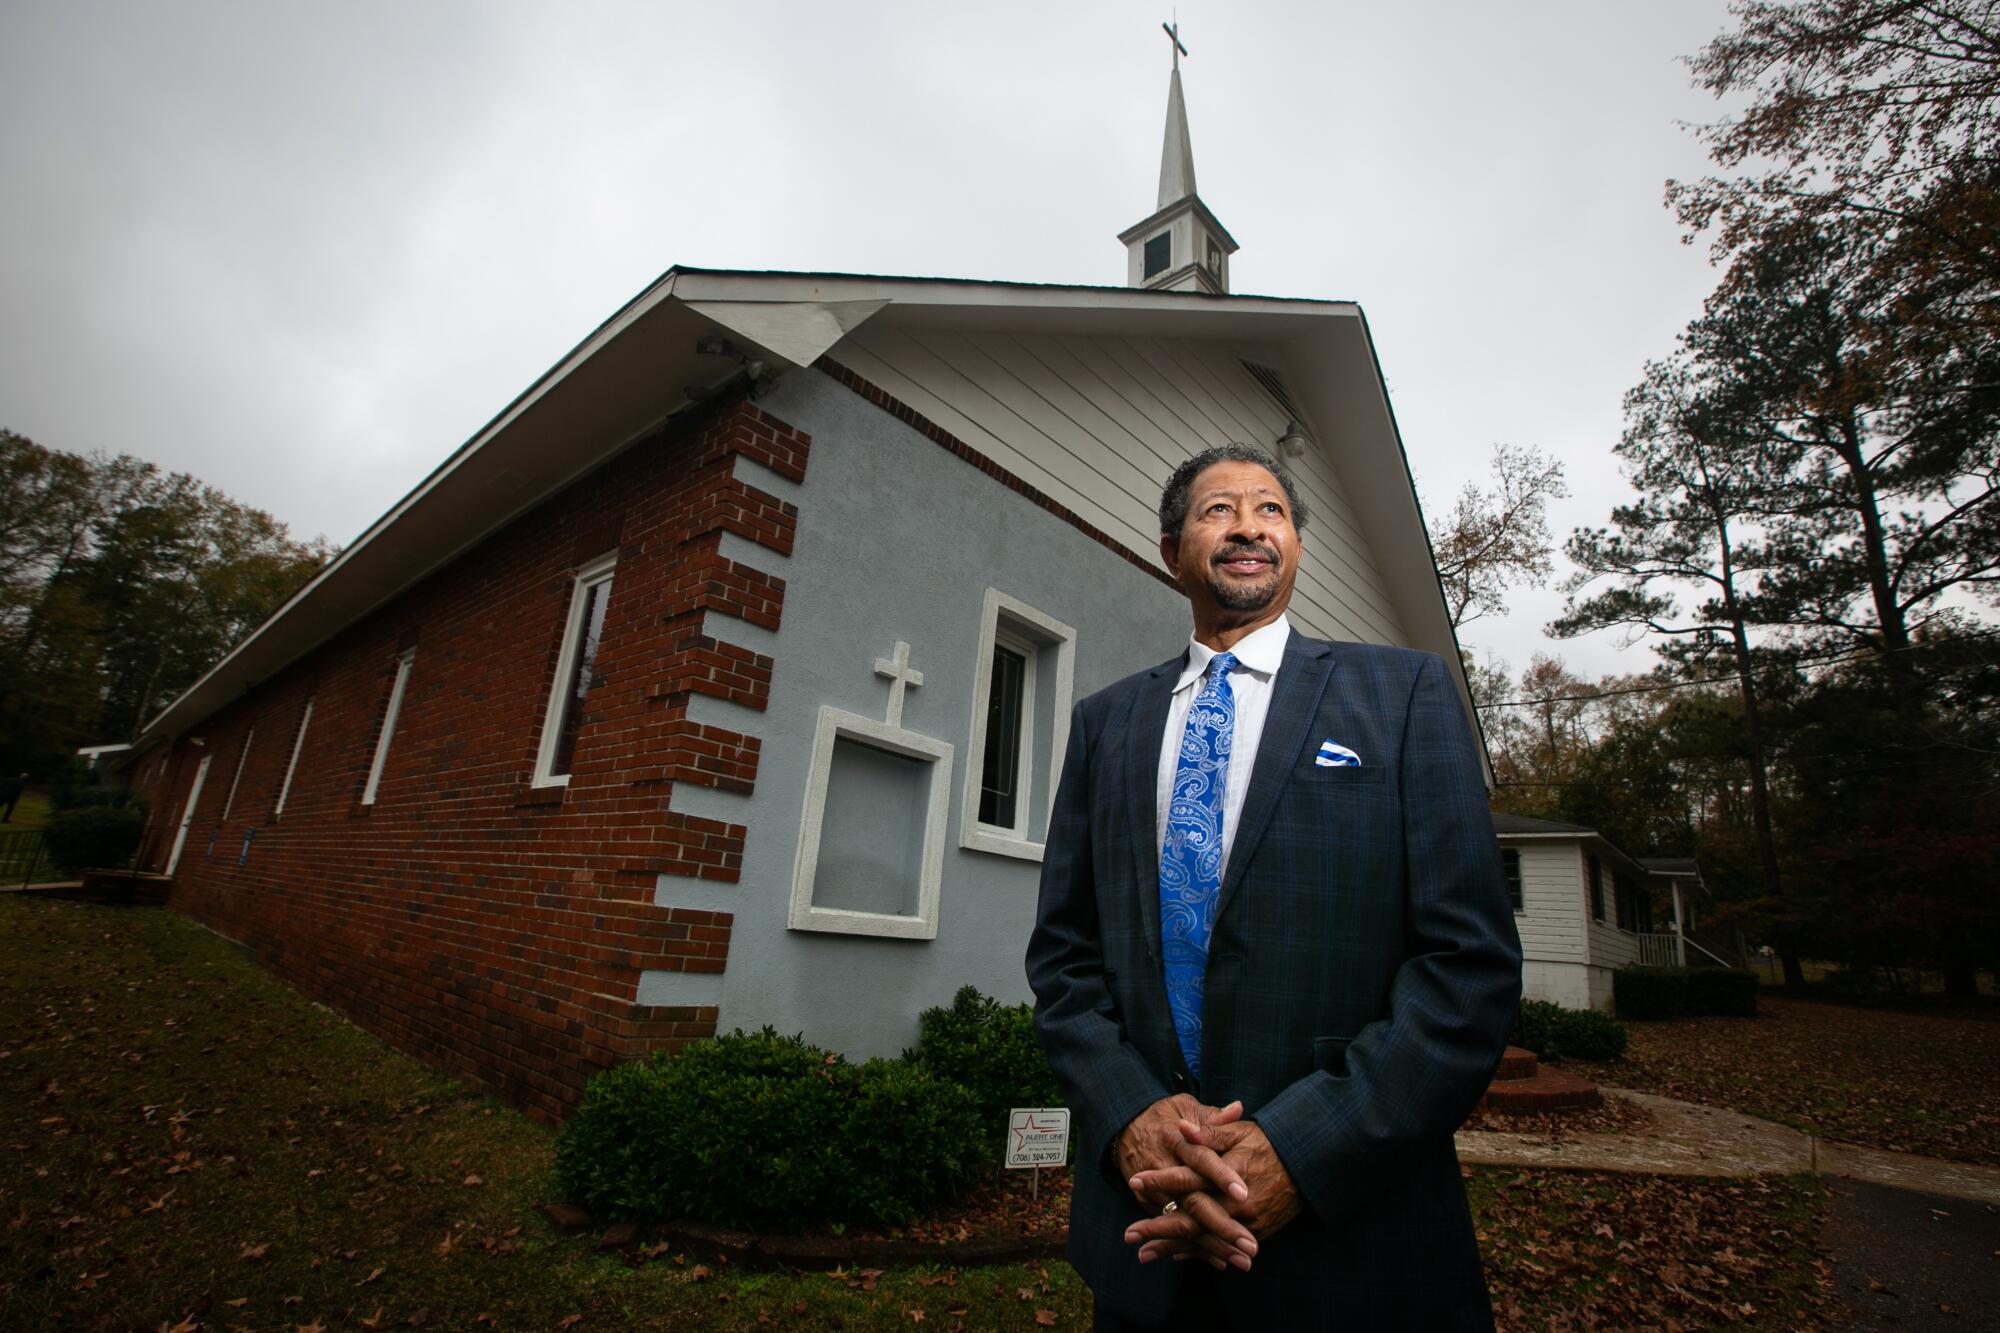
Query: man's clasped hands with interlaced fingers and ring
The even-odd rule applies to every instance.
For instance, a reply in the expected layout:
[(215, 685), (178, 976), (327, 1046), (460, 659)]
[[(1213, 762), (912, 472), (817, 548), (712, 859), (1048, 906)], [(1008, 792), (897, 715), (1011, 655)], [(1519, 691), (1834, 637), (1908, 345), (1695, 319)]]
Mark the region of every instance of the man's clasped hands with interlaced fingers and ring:
[(1118, 1135), (1118, 1173), (1156, 1213), (1126, 1227), (1140, 1263), (1200, 1257), (1216, 1269), (1250, 1271), (1258, 1241), (1298, 1217), (1290, 1173), (1256, 1121), (1242, 1115), (1240, 1101), (1218, 1109), (1176, 1093)]

